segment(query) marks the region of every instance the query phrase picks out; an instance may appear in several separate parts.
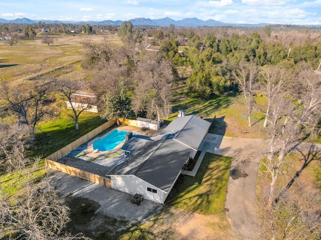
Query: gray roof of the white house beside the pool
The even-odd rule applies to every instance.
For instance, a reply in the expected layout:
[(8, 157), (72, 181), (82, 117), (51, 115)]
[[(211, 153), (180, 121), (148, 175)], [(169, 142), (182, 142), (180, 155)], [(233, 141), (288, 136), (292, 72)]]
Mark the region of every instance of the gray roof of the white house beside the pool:
[(130, 151), (127, 160), (107, 175), (135, 175), (167, 192), (209, 127), (206, 120), (189, 115), (174, 119), (157, 136), (134, 135), (121, 148)]

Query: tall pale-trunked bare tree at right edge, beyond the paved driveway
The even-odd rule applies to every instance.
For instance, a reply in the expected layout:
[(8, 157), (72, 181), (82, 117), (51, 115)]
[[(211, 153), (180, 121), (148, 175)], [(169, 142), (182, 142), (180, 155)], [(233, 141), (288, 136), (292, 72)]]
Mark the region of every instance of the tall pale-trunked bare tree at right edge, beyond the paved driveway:
[(267, 132), (271, 139), (268, 158), (261, 162), (271, 175), (269, 205), (278, 200), (275, 187), (286, 154), (311, 133), (320, 119), (321, 79), (313, 71), (304, 69), (296, 84), (297, 91), (292, 95), (297, 97), (299, 104), (295, 105), (292, 99), (285, 98), (279, 92), (269, 106), (267, 121), (270, 127)]

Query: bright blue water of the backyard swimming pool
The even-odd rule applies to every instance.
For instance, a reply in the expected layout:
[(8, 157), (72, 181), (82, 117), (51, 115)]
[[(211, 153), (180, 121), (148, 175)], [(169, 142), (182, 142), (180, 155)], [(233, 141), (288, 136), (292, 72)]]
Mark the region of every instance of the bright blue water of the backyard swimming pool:
[[(125, 140), (127, 133), (128, 131), (115, 129), (102, 139), (94, 141), (93, 149), (98, 149), (99, 151), (114, 149), (119, 143)], [(135, 135), (135, 133), (133, 133), (133, 135)]]

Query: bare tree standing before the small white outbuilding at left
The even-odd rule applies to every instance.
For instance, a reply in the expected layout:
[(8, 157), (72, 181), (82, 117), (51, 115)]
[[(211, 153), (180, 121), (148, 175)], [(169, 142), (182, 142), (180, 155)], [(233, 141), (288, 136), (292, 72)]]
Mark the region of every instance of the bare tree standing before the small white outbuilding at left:
[(92, 104), (92, 99), (89, 97), (83, 97), (81, 102), (75, 103), (73, 100), (73, 95), (80, 90), (80, 84), (73, 80), (61, 79), (57, 81), (57, 90), (62, 94), (64, 98), (67, 98), (67, 102), (72, 110), (71, 114), (68, 114), (76, 124), (76, 130), (79, 130), (79, 115), (90, 108)]

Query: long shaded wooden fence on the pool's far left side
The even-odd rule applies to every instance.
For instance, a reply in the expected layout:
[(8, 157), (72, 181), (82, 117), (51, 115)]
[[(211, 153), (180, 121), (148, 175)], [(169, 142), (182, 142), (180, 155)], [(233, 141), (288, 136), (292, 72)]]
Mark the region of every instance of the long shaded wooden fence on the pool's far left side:
[(72, 143), (68, 144), (67, 146), (61, 148), (57, 152), (51, 154), (50, 156), (47, 157), (47, 159), (50, 159), (52, 161), (57, 161), (60, 159), (62, 156), (66, 155), (67, 153), (71, 152), (72, 150), (76, 149), (79, 147), (81, 144), (87, 142), (88, 140), (92, 139), (95, 137), (97, 134), (101, 133), (102, 131), (106, 130), (107, 128), (111, 127), (114, 125), (117, 121), (116, 120), (110, 120), (101, 126), (95, 128), (94, 130), (90, 131), (86, 135), (78, 138), (77, 140), (73, 141)]

